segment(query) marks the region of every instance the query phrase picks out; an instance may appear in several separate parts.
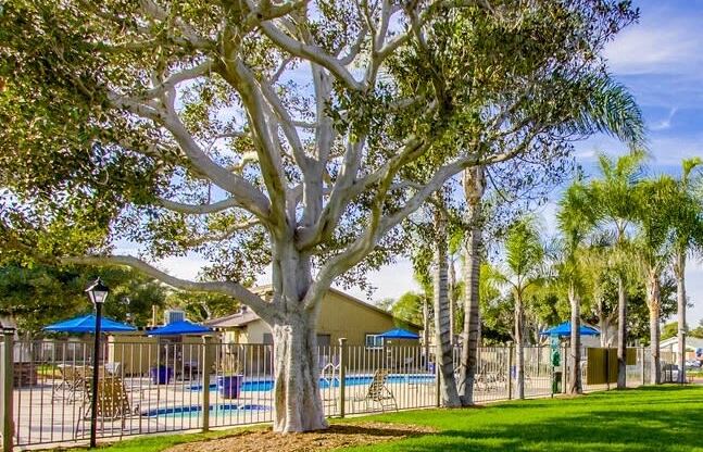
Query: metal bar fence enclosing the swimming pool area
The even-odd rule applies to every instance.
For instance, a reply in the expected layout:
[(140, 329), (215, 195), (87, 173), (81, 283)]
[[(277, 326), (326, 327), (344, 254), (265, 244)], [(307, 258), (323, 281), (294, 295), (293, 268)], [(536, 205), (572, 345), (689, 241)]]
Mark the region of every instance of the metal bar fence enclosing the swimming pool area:
[[(98, 438), (271, 423), (273, 347), (211, 339), (104, 343), (99, 363)], [(85, 442), (90, 431), (90, 341), (15, 340), (0, 343), (3, 450)], [(478, 353), (477, 403), (515, 395), (514, 348)], [(562, 354), (566, 354), (563, 352)], [(459, 363), (459, 352), (455, 353)], [(638, 356), (644, 353), (638, 352)], [(525, 350), (525, 394), (552, 394), (549, 348)], [(642, 384), (641, 364), (628, 379)], [(459, 374), (459, 365), (455, 366)], [(321, 347), (319, 391), (327, 416), (438, 406), (432, 356), (419, 346)], [(639, 379), (638, 379), (639, 378)], [(586, 380), (585, 380), (586, 381)], [(590, 388), (594, 389), (594, 388)], [(560, 388), (563, 390), (563, 386)]]

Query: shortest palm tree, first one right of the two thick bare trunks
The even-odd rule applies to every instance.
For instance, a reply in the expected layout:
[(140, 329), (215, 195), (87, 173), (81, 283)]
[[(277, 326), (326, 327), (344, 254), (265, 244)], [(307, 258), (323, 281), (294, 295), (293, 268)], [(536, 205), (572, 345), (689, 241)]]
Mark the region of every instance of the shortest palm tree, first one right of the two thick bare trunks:
[(544, 246), (532, 217), (514, 223), (505, 237), (505, 265), (493, 277), (506, 286), (515, 303), (515, 375), (517, 398), (525, 398), (525, 300), (543, 279)]

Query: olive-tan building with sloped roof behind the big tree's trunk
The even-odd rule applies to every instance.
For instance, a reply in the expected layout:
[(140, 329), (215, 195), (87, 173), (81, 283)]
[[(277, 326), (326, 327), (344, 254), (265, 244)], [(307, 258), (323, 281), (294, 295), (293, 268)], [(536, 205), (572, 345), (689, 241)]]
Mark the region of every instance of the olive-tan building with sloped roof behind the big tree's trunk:
[[(256, 292), (264, 298), (272, 294), (269, 287), (262, 287)], [(268, 324), (247, 306), (204, 324), (221, 331), (224, 342), (273, 343)], [(390, 313), (336, 289), (330, 289), (325, 296), (317, 325), (317, 344), (321, 347), (335, 346), (339, 338), (347, 338), (350, 346), (380, 348), (382, 341), (377, 336), (399, 325), (413, 332), (419, 331), (418, 326), (403, 323)]]

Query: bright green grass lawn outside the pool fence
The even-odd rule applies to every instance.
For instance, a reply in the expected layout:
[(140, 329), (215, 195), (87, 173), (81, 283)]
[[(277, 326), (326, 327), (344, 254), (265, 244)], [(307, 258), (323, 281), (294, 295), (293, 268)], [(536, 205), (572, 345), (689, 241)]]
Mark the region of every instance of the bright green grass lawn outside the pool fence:
[[(356, 417), (430, 426), (437, 434), (346, 451), (701, 451), (703, 386), (661, 386), (574, 399), (505, 402), (465, 410), (423, 410)], [(105, 452), (156, 452), (231, 435), (172, 435), (125, 440)], [(214, 444), (213, 444), (214, 445)], [(213, 450), (215, 450), (214, 448)], [(262, 450), (266, 450), (262, 444)]]

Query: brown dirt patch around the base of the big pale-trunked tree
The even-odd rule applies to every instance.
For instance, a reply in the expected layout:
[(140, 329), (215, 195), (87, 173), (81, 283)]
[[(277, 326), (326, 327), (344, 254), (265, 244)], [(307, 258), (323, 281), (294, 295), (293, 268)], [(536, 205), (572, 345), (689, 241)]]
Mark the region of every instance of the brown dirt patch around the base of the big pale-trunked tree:
[(298, 452), (328, 451), (351, 445), (420, 436), (436, 430), (417, 425), (359, 423), (332, 424), (327, 430), (278, 435), (271, 430), (244, 431), (227, 438), (178, 444), (166, 452)]

